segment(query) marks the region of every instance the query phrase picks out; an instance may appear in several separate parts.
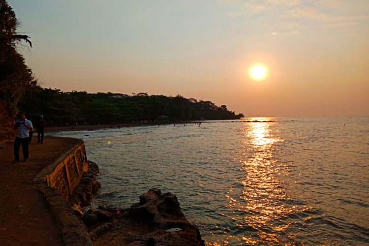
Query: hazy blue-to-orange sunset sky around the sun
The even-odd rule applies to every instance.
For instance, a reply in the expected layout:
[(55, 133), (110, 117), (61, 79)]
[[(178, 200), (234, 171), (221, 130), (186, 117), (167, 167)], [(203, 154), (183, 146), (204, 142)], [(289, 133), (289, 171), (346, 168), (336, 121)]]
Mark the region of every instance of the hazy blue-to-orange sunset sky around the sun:
[(369, 0), (8, 3), (46, 88), (181, 94), (247, 117), (369, 115)]

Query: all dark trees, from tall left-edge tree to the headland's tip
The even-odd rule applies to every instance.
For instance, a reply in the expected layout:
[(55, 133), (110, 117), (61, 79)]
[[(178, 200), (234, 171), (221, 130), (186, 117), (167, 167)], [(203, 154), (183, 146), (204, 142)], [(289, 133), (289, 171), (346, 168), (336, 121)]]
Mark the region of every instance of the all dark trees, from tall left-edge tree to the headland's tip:
[(0, 140), (12, 137), (12, 124), (19, 111), (25, 111), (33, 119), (44, 115), (54, 125), (152, 122), (160, 115), (172, 122), (243, 117), (225, 105), (181, 95), (62, 92), (42, 88), (18, 51), (19, 47), (32, 47), (30, 37), (17, 32), (19, 25), (11, 6), (0, 0)]

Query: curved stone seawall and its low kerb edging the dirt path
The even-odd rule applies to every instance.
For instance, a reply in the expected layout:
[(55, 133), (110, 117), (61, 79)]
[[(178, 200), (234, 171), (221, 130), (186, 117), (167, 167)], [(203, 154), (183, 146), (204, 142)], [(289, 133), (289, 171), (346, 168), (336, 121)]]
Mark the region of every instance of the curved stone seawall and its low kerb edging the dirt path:
[(81, 139), (73, 140), (75, 145), (37, 174), (34, 182), (60, 228), (63, 244), (90, 246), (92, 242), (86, 226), (73, 214), (68, 203), (88, 169), (84, 142)]

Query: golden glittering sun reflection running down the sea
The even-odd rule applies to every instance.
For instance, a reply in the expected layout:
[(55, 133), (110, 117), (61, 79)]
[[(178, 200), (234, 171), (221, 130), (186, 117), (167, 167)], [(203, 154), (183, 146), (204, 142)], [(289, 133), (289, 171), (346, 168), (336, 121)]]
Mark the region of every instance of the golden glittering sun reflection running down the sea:
[[(254, 120), (254, 119), (252, 119)], [(238, 197), (232, 195), (231, 187), (226, 197), (227, 207), (233, 210), (241, 210), (244, 216), (238, 218), (238, 226), (254, 231), (242, 236), (246, 244), (278, 244), (278, 232), (289, 227), (289, 223), (276, 223), (282, 216), (294, 211), (296, 208), (288, 207), (281, 200), (288, 197), (278, 180), (278, 174), (283, 173), (273, 158), (275, 143), (282, 141), (271, 135), (270, 127), (274, 124), (269, 118), (255, 119), (259, 122), (244, 123), (244, 147), (249, 150), (240, 160), (241, 168), (245, 172), (245, 178), (240, 181), (243, 186), (242, 194)], [(287, 175), (287, 173), (285, 173)], [(265, 228), (269, 228), (266, 230)]]

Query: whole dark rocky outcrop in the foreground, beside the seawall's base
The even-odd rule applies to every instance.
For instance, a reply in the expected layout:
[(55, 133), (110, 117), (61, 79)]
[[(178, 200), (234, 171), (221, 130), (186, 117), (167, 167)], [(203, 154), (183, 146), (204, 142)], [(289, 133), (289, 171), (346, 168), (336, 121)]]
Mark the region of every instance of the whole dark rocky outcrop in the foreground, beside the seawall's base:
[(174, 194), (154, 188), (139, 198), (129, 209), (105, 207), (83, 216), (93, 245), (205, 245)]

